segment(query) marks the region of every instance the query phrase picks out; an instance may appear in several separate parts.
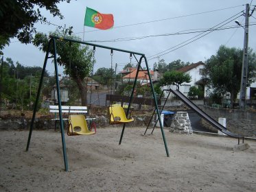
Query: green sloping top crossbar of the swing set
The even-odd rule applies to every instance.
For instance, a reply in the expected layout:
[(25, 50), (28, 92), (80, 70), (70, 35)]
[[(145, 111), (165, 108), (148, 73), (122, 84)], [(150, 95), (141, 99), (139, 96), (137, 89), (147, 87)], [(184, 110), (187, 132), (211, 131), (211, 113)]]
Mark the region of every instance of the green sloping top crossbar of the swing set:
[(49, 37), (54, 38), (54, 39), (58, 39), (58, 40), (66, 40), (66, 41), (73, 42), (73, 43), (81, 43), (81, 44), (84, 44), (84, 45), (90, 45), (90, 46), (93, 46), (93, 47), (100, 47), (100, 48), (104, 48), (104, 49), (110, 49), (110, 50), (113, 50), (113, 51), (121, 51), (121, 52), (124, 52), (124, 53), (132, 53), (132, 54), (136, 54), (136, 55), (139, 55), (139, 56), (145, 56), (145, 54), (143, 54), (143, 53), (137, 53), (135, 51), (128, 51), (128, 50), (125, 50), (125, 49), (117, 49), (115, 47), (108, 47), (108, 46), (104, 46), (104, 45), (97, 45), (97, 44), (89, 43), (89, 42), (82, 41), (82, 40), (74, 40), (74, 39), (71, 39), (71, 38), (52, 36), (52, 35), (50, 35)]

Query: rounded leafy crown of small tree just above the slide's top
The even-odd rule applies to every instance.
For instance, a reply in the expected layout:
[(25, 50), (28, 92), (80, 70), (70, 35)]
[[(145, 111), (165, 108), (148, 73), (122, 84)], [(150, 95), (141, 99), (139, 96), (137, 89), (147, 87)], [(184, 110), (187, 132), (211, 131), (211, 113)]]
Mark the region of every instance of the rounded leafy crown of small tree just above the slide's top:
[(166, 71), (159, 81), (159, 86), (176, 85), (179, 89), (179, 86), (181, 86), (181, 84), (184, 82), (191, 82), (191, 76), (189, 74), (183, 73), (181, 71)]

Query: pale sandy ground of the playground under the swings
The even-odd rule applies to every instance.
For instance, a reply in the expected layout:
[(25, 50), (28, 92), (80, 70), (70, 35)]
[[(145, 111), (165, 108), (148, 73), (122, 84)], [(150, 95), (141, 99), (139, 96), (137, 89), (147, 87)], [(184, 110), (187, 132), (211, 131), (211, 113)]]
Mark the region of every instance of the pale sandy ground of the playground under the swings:
[(67, 136), (65, 171), (60, 132), (1, 131), (0, 191), (256, 191), (256, 141), (233, 152), (236, 139), (165, 130), (102, 128), (92, 136)]

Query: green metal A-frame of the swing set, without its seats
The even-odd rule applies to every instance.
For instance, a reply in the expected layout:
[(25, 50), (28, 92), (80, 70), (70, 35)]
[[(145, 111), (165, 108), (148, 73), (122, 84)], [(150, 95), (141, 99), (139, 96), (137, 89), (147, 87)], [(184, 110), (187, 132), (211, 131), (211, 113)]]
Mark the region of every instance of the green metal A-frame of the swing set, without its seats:
[[(138, 77), (139, 69), (141, 67), (142, 60), (144, 60), (145, 63), (146, 63), (146, 69), (148, 71), (148, 74), (150, 74), (150, 69), (148, 68), (147, 58), (146, 58), (145, 54), (143, 54), (143, 53), (137, 53), (137, 52), (134, 52), (134, 51), (127, 51), (127, 50), (124, 50), (124, 49), (117, 49), (115, 47), (107, 47), (107, 46), (103, 46), (103, 45), (96, 45), (96, 44), (88, 43), (88, 42), (81, 41), (81, 40), (73, 40), (73, 39), (70, 39), (70, 38), (62, 38), (62, 37), (59, 37), (59, 36), (49, 36), (49, 37), (50, 37), (50, 40), (48, 42), (47, 52), (45, 54), (45, 62), (43, 64), (43, 70), (42, 70), (42, 74), (41, 74), (41, 77), (40, 77), (38, 92), (37, 92), (37, 95), (36, 95), (36, 102), (34, 104), (34, 111), (33, 111), (32, 121), (31, 121), (31, 125), (30, 125), (30, 133), (29, 133), (29, 136), (28, 136), (28, 139), (27, 139), (26, 151), (28, 151), (28, 149), (30, 147), (30, 141), (31, 141), (31, 137), (32, 137), (32, 130), (34, 128), (34, 120), (35, 120), (35, 117), (36, 117), (36, 109), (38, 107), (38, 101), (39, 101), (40, 91), (41, 91), (42, 84), (43, 84), (43, 76), (45, 74), (45, 68), (46, 68), (46, 65), (47, 65), (47, 60), (52, 58), (54, 60), (54, 68), (55, 68), (55, 76), (56, 76), (56, 86), (57, 86), (57, 97), (58, 97), (58, 109), (59, 109), (60, 132), (61, 132), (61, 139), (62, 139), (63, 158), (64, 158), (64, 164), (65, 164), (65, 171), (69, 171), (69, 165), (68, 165), (68, 160), (67, 160), (66, 142), (65, 142), (65, 130), (64, 130), (64, 124), (63, 124), (63, 121), (62, 121), (60, 84), (59, 84), (59, 81), (58, 81), (58, 64), (57, 64), (57, 57), (56, 57), (57, 56), (56, 40), (64, 40), (64, 41), (71, 42), (71, 43), (80, 43), (80, 44), (83, 44), (83, 45), (89, 45), (89, 46), (93, 46), (93, 47), (100, 47), (100, 48), (103, 48), (103, 49), (110, 49), (112, 51), (120, 51), (120, 52), (124, 52), (124, 53), (130, 53), (135, 58), (136, 58), (136, 55), (140, 56), (139, 62), (136, 58), (136, 60), (138, 62), (138, 68), (137, 68), (137, 73), (136, 73), (136, 76), (135, 76), (135, 82), (132, 86), (132, 93), (130, 95), (130, 101), (129, 101), (128, 109), (126, 111), (126, 117), (128, 116), (129, 111), (130, 111), (131, 102), (132, 102), (132, 99), (133, 99), (133, 93), (134, 93), (135, 86), (136, 86), (136, 83), (137, 83), (137, 77)], [(49, 56), (49, 52), (50, 52), (51, 49), (54, 50), (54, 53), (53, 53), (52, 56)], [(151, 79), (150, 75), (149, 75), (149, 80), (150, 80), (150, 87), (151, 87), (153, 97), (154, 97), (154, 105), (156, 107), (156, 113), (157, 113), (158, 118), (161, 119), (160, 111), (159, 111), (157, 101), (156, 101), (156, 94), (154, 92), (154, 86), (153, 86), (152, 79)], [(159, 123), (160, 123), (161, 133), (162, 133), (162, 136), (163, 136), (163, 142), (164, 142), (164, 145), (165, 145), (165, 152), (166, 152), (167, 157), (169, 157), (169, 150), (168, 150), (166, 139), (165, 139), (165, 133), (163, 131), (163, 124), (161, 123), (161, 121), (159, 121)], [(120, 139), (119, 139), (119, 145), (121, 145), (121, 141), (122, 141), (123, 136), (124, 136), (125, 128), (126, 128), (126, 123), (124, 123), (123, 129), (121, 131), (121, 136), (120, 136)]]

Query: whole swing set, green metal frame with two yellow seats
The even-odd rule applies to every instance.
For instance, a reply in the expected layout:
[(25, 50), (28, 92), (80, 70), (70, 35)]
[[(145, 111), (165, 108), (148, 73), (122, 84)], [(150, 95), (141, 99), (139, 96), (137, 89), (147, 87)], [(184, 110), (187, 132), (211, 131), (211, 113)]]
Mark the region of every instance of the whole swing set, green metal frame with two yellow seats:
[[(61, 139), (62, 139), (62, 151), (63, 151), (63, 158), (64, 158), (64, 164), (65, 164), (65, 171), (69, 171), (69, 166), (68, 166), (68, 161), (67, 161), (66, 142), (65, 142), (65, 130), (64, 130), (64, 123), (63, 123), (63, 118), (62, 118), (62, 105), (61, 105), (61, 99), (60, 99), (60, 84), (59, 84), (59, 80), (58, 80), (56, 40), (62, 40), (62, 41), (67, 41), (69, 43), (80, 43), (80, 44), (83, 44), (83, 45), (93, 46), (93, 51), (95, 51), (95, 47), (99, 47), (99, 48), (102, 48), (102, 49), (109, 49), (111, 51), (111, 53), (110, 53), (110, 55), (111, 55), (111, 65), (112, 65), (113, 51), (130, 53), (130, 58), (131, 58), (131, 56), (134, 56), (136, 60), (137, 60), (136, 56), (140, 56), (140, 59), (137, 60), (137, 63), (138, 63), (137, 73), (136, 73), (136, 76), (135, 76), (135, 81), (134, 81), (133, 86), (132, 86), (132, 91), (131, 91), (131, 94), (130, 94), (130, 101), (128, 103), (128, 108), (126, 110), (126, 113), (124, 112), (124, 108), (122, 108), (121, 106), (113, 106), (113, 104), (110, 104), (110, 107), (109, 107), (109, 113), (110, 113), (110, 117), (109, 117), (110, 120), (109, 121), (110, 121), (110, 124), (123, 123), (123, 128), (122, 128), (121, 136), (120, 136), (120, 139), (119, 139), (119, 145), (121, 145), (121, 141), (122, 141), (123, 136), (124, 136), (124, 130), (126, 128), (126, 123), (130, 123), (130, 122), (134, 121), (133, 118), (130, 117), (128, 119), (127, 117), (129, 115), (129, 112), (130, 112), (131, 103), (132, 103), (132, 99), (133, 99), (133, 94), (134, 94), (135, 86), (136, 86), (136, 83), (137, 83), (137, 77), (138, 77), (138, 74), (139, 74), (139, 69), (141, 69), (142, 60), (144, 60), (145, 63), (146, 63), (146, 70), (148, 71), (148, 74), (150, 74), (150, 70), (148, 68), (147, 58), (146, 58), (145, 54), (143, 54), (143, 53), (137, 53), (137, 52), (134, 52), (134, 51), (127, 51), (127, 50), (124, 50), (124, 49), (117, 49), (117, 48), (114, 48), (114, 47), (107, 47), (107, 46), (104, 46), (104, 45), (96, 45), (96, 44), (93, 44), (93, 43), (88, 43), (88, 42), (81, 41), (81, 40), (73, 40), (73, 39), (70, 39), (70, 38), (62, 38), (62, 37), (58, 37), (58, 36), (49, 36), (49, 37), (50, 37), (50, 40), (48, 42), (47, 52), (45, 54), (45, 62), (43, 64), (43, 70), (42, 70), (42, 73), (41, 73), (40, 82), (39, 82), (39, 86), (38, 86), (38, 92), (37, 92), (37, 95), (36, 95), (36, 102), (34, 104), (34, 111), (33, 111), (32, 121), (31, 121), (31, 124), (30, 124), (30, 133), (29, 133), (29, 136), (28, 136), (28, 139), (27, 139), (26, 151), (28, 151), (28, 149), (30, 147), (30, 141), (31, 141), (31, 137), (32, 137), (32, 130), (34, 128), (34, 120), (35, 120), (35, 117), (36, 117), (36, 110), (37, 110), (37, 107), (38, 107), (40, 91), (41, 91), (41, 88), (42, 88), (42, 85), (43, 85), (43, 76), (45, 74), (45, 68), (46, 68), (46, 65), (47, 65), (47, 60), (48, 59), (53, 59), (54, 60), (54, 68), (55, 68), (55, 76), (56, 76), (56, 87), (57, 87), (57, 97), (58, 97), (58, 114), (59, 114), (59, 120), (60, 120), (60, 133), (61, 133)], [(54, 50), (54, 53), (51, 56), (49, 55), (50, 50)], [(150, 75), (149, 75), (149, 80), (150, 80), (150, 87), (152, 89), (152, 94), (153, 94), (153, 97), (154, 97), (154, 106), (156, 108), (156, 115), (158, 116), (159, 119), (161, 119), (160, 110), (159, 110), (159, 107), (157, 105), (156, 94), (154, 92), (154, 86), (153, 86), (152, 79), (151, 79)], [(69, 116), (69, 128), (68, 129), (69, 129), (69, 132), (72, 133), (71, 135), (77, 135), (77, 134), (89, 135), (89, 134), (94, 134), (95, 133), (95, 132), (91, 132), (90, 130), (86, 130), (86, 129), (83, 129), (82, 132), (81, 132), (81, 130), (76, 130), (75, 129), (77, 127), (80, 127), (80, 122), (84, 122), (84, 121), (85, 121), (84, 115), (70, 115)], [(163, 131), (163, 124), (161, 123), (161, 121), (159, 123), (160, 123), (160, 128), (161, 128), (161, 134), (163, 136), (163, 142), (164, 142), (164, 145), (165, 145), (165, 152), (166, 152), (167, 157), (169, 157), (169, 151), (168, 151), (167, 143), (166, 143), (166, 140), (165, 140), (165, 133)], [(86, 128), (87, 128), (87, 126), (86, 126)]]

